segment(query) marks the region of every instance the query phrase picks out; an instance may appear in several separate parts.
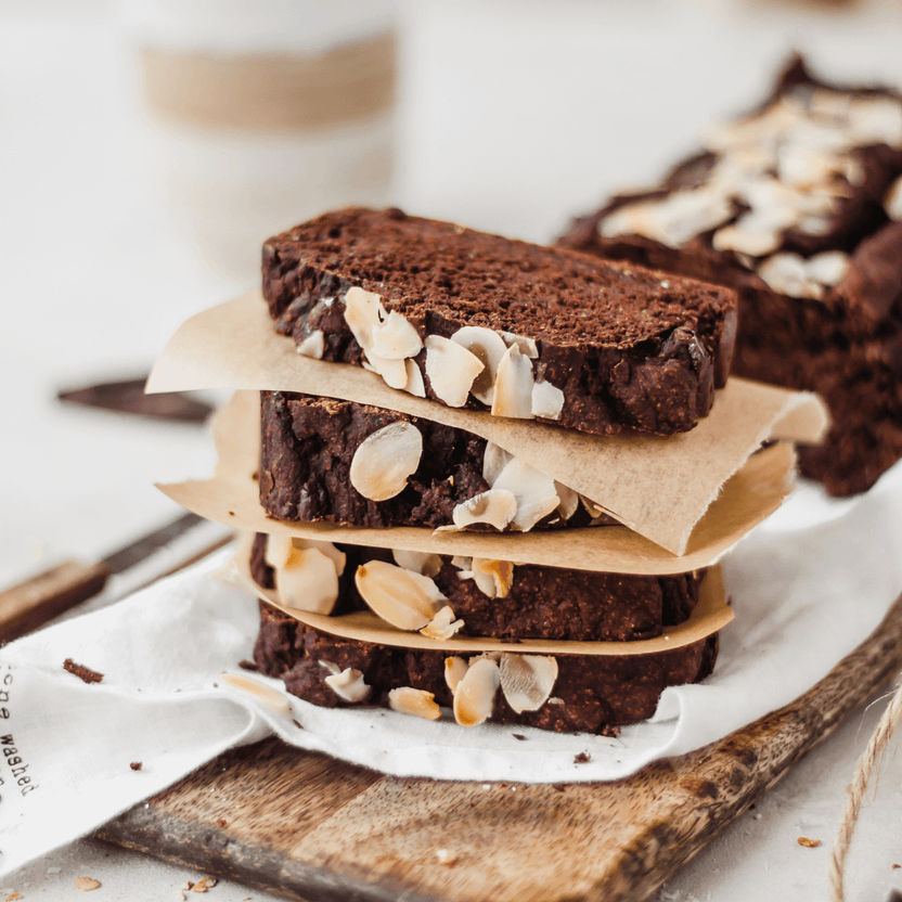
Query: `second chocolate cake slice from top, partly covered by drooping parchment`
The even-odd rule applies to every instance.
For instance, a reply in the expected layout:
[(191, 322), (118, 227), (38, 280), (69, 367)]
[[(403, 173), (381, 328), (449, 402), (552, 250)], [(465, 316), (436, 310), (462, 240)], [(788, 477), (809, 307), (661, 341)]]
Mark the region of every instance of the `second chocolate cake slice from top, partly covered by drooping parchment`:
[(260, 502), (272, 517), (521, 531), (614, 523), (462, 429), (331, 398), (263, 391), (260, 400)]

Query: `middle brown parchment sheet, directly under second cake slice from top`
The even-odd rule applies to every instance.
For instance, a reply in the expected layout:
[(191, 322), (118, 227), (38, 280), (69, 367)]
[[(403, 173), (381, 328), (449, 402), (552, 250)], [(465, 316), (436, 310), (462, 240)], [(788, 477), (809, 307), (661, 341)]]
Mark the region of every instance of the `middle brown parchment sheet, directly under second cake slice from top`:
[(462, 554), (515, 564), (542, 564), (611, 574), (683, 574), (720, 560), (739, 539), (776, 511), (793, 489), (793, 448), (779, 442), (752, 455), (724, 485), (698, 524), (683, 556), (621, 526), (531, 532), (434, 532), (418, 527), (363, 529), (268, 517), (253, 478), (259, 455), (260, 397), (237, 391), (214, 422), (218, 461), (211, 479), (158, 488), (202, 517), (253, 532), (276, 532), (326, 542)]

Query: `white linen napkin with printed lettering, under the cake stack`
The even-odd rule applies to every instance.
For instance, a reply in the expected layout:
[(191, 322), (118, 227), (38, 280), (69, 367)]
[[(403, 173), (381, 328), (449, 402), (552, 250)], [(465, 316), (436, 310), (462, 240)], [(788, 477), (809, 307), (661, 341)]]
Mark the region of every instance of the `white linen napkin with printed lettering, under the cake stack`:
[[(748, 537), (724, 563), (736, 619), (713, 674), (666, 690), (652, 720), (614, 739), (288, 695), (291, 711), (276, 710), (220, 679), (249, 675), (237, 663), (258, 623), (256, 598), (211, 579), (228, 554), (0, 649), (0, 877), (273, 733), (389, 774), (528, 783), (616, 779), (714, 742), (810, 688), (902, 592), (902, 465), (851, 500), (803, 486)], [(65, 671), (66, 658), (102, 682)]]

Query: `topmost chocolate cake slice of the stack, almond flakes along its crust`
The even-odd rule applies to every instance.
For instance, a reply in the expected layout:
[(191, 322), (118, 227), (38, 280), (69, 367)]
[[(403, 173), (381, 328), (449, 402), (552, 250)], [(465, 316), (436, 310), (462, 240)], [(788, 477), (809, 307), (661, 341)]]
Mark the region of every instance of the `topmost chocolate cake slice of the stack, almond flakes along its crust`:
[(735, 332), (729, 289), (397, 209), (339, 210), (271, 239), (263, 296), (302, 355), (597, 435), (691, 429)]

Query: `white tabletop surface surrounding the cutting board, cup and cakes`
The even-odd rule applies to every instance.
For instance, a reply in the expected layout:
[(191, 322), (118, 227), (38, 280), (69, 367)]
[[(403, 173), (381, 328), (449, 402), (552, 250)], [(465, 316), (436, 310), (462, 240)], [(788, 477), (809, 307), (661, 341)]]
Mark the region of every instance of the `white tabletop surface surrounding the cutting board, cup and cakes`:
[[(395, 198), (536, 240), (609, 190), (654, 178), (706, 121), (753, 103), (790, 47), (837, 75), (902, 81), (902, 17), (876, 2), (835, 13), (799, 3), (751, 14), (738, 0), (403, 9)], [(158, 525), (177, 508), (153, 481), (211, 464), (196, 428), (54, 401), (62, 386), (145, 372), (182, 319), (256, 280), (194, 252), (159, 190), (131, 64), (104, 4), (0, 5), (0, 584)], [(845, 787), (881, 710), (875, 700), (853, 713), (659, 902), (827, 898)], [(900, 787), (893, 746), (856, 833), (850, 900), (902, 886)], [(802, 848), (799, 836), (823, 845)], [(79, 840), (7, 878), (0, 899), (80, 900), (81, 875), (101, 880), (99, 902), (176, 899), (203, 876)], [(228, 881), (209, 895), (248, 897), (274, 898)]]

